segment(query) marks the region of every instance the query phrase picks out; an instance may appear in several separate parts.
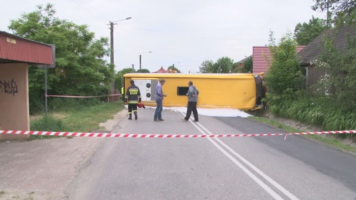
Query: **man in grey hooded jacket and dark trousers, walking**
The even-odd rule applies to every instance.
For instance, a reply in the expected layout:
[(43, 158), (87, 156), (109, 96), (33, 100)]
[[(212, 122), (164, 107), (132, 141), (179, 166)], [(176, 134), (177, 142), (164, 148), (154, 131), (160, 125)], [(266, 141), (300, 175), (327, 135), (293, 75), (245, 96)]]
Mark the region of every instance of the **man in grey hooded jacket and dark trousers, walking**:
[(197, 111), (197, 100), (198, 100), (199, 91), (193, 85), (193, 81), (189, 81), (188, 85), (189, 85), (189, 89), (187, 93), (188, 96), (187, 115), (185, 115), (185, 117), (182, 120), (188, 121), (193, 111), (194, 121), (198, 122), (199, 119), (198, 119), (198, 111)]

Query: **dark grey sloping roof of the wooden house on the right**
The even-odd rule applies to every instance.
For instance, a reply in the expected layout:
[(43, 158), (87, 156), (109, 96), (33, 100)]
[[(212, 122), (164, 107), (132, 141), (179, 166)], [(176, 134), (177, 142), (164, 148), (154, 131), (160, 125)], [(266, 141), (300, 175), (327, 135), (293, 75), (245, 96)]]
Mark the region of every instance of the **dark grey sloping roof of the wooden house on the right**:
[(303, 51), (298, 53), (301, 65), (310, 65), (310, 62), (318, 59), (324, 49), (324, 36), (335, 38), (334, 47), (337, 51), (343, 51), (347, 48), (347, 36), (356, 37), (356, 30), (351, 26), (344, 25), (341, 27), (325, 30), (312, 42), (310, 42)]

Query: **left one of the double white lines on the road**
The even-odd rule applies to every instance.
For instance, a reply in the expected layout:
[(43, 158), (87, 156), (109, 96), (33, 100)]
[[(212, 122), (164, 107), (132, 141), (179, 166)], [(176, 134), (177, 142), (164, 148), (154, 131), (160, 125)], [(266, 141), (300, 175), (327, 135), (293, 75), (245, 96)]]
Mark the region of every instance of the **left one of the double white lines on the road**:
[[(184, 115), (183, 112), (182, 115)], [(185, 116), (185, 115), (184, 115)], [(203, 135), (206, 135), (206, 133), (201, 130), (197, 125), (195, 125), (195, 123), (199, 122), (193, 122), (191, 120), (189, 120), (190, 123), (192, 123), (195, 128), (198, 129), (198, 131), (200, 131)], [(214, 146), (216, 148), (218, 148), (221, 152), (223, 152), (225, 154), (226, 157), (228, 157), (232, 162), (234, 162), (238, 167), (240, 167), (240, 169), (242, 169), (252, 180), (254, 180), (258, 185), (261, 186), (261, 188), (263, 188), (264, 190), (267, 191), (268, 194), (270, 194), (274, 199), (276, 200), (283, 200), (283, 198), (281, 196), (279, 196), (275, 191), (273, 191), (271, 188), (268, 187), (268, 185), (266, 185), (265, 183), (263, 183), (262, 180), (260, 180), (259, 178), (256, 177), (255, 174), (253, 174), (252, 172), (250, 172), (250, 170), (248, 170), (244, 165), (242, 165), (238, 160), (236, 160), (233, 156), (231, 156), (227, 151), (225, 151), (222, 147), (219, 146), (218, 143), (216, 143), (213, 139), (211, 139), (210, 137), (207, 137), (207, 139), (214, 144)]]

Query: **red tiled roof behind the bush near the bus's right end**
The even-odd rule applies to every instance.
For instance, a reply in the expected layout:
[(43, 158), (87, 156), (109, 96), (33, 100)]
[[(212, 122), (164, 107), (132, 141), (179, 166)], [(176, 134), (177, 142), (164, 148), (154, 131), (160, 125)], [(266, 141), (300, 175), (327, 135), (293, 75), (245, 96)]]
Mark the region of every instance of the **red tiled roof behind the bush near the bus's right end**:
[[(304, 47), (305, 46), (297, 46), (297, 52), (302, 51)], [(272, 64), (269, 47), (252, 47), (252, 64), (253, 73), (266, 73)]]

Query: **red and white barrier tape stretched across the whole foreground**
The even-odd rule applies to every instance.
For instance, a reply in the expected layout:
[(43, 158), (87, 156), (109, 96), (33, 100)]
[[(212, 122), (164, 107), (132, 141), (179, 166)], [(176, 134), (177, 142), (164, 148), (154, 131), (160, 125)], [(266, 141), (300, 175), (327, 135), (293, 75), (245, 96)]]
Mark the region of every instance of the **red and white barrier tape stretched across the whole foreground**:
[(350, 131), (320, 131), (303, 133), (261, 133), (261, 134), (227, 134), (227, 135), (174, 135), (174, 134), (126, 134), (126, 133), (82, 133), (82, 132), (55, 132), (55, 131), (0, 131), (2, 134), (17, 135), (46, 135), (46, 136), (76, 136), (76, 137), (125, 137), (125, 138), (197, 138), (197, 137), (248, 137), (248, 136), (285, 136), (288, 135), (321, 135), (321, 134), (346, 134), (356, 133), (356, 130)]

